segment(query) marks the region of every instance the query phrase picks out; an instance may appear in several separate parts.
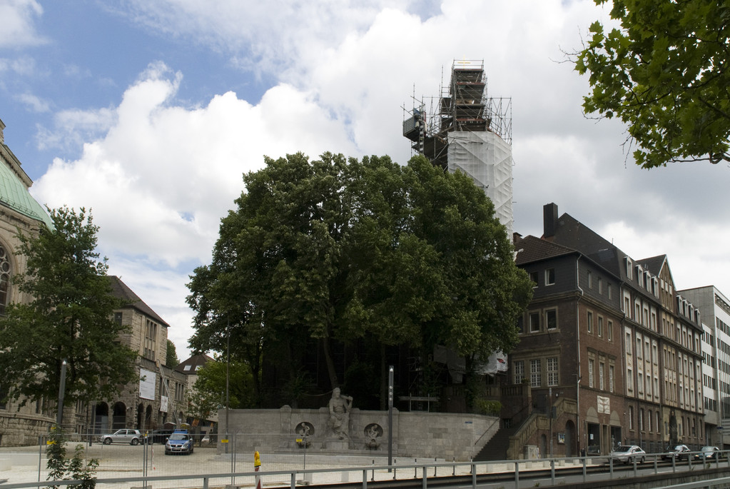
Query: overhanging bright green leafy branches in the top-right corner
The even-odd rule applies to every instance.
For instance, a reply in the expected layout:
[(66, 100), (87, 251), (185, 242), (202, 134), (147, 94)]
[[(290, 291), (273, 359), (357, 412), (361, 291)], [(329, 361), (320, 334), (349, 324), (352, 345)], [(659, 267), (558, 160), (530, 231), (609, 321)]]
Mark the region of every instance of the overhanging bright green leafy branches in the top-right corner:
[(643, 168), (730, 161), (730, 4), (614, 0), (611, 18), (621, 28), (593, 23), (575, 60), (590, 73), (585, 112), (626, 123)]

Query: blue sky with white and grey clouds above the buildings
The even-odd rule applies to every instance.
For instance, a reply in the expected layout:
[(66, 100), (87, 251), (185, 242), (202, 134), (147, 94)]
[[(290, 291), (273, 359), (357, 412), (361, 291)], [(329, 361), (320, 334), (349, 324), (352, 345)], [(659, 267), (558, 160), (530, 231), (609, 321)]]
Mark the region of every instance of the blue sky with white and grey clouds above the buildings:
[(515, 231), (558, 204), (678, 289), (730, 295), (726, 164), (634, 164), (626, 128), (586, 118), (569, 63), (593, 0), (0, 0), (4, 142), (49, 207), (91, 209), (110, 274), (187, 358), (193, 269), (242, 175), (302, 151), (406, 163), (404, 109), (483, 61), (512, 100)]

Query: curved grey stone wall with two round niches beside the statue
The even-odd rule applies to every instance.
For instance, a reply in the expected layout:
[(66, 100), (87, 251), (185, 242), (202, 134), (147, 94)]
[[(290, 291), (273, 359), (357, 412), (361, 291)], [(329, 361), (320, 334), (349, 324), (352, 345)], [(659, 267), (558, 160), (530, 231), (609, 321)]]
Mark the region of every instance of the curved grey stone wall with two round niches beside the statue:
[[(350, 413), (349, 439), (342, 441), (328, 426), (328, 409), (231, 409), (228, 450), (232, 453), (307, 453), (388, 455), (388, 412)], [(226, 411), (218, 413), (219, 453), (226, 452)], [(393, 456), (469, 461), (499, 429), (499, 418), (393, 409)]]

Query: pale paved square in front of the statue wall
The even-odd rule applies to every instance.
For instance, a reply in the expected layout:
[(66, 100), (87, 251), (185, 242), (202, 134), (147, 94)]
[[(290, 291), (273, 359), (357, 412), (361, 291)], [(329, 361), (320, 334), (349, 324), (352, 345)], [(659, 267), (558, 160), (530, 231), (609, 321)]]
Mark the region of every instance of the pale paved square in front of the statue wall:
[[(67, 445), (67, 453), (71, 454), (76, 444)], [(97, 469), (97, 478), (99, 480), (111, 479), (115, 477), (142, 477), (145, 469), (145, 458), (147, 459), (147, 476), (169, 476), (169, 475), (193, 475), (193, 474), (227, 474), (211, 480), (211, 487), (220, 487), (233, 483), (237, 486), (255, 487), (255, 477), (241, 476), (231, 478), (231, 473), (253, 472), (253, 453), (243, 453), (236, 457), (231, 455), (218, 455), (215, 447), (196, 447), (191, 455), (164, 455), (164, 445), (155, 444), (149, 447), (138, 445), (132, 447), (130, 445), (104, 445), (94, 443), (89, 447), (84, 444), (83, 453), (87, 459), (98, 458), (99, 469)], [(145, 449), (147, 452), (145, 453)], [(3, 460), (12, 459), (12, 465), (7, 470), (2, 470)], [(39, 470), (40, 461), (40, 470)], [(413, 463), (433, 463), (430, 461), (415, 461), (414, 459), (396, 459), (396, 467)], [(305, 467), (306, 463), (306, 467)], [(266, 454), (261, 453), (261, 475), (262, 484), (267, 485), (289, 485), (291, 484), (291, 474), (267, 474), (274, 471), (294, 471), (302, 469), (338, 469), (350, 467), (364, 466), (385, 466), (387, 458), (364, 458), (364, 457), (346, 457), (338, 455), (312, 455), (308, 454), (306, 461), (304, 454), (296, 453), (293, 455), (286, 454)], [(7, 465), (7, 463), (5, 463)], [(430, 469), (429, 477), (433, 475), (434, 469)], [(453, 469), (450, 467), (442, 467), (438, 469), (439, 475), (450, 475)], [(457, 469), (457, 474), (468, 473), (468, 466)], [(46, 480), (47, 471), (45, 470), (45, 447), (0, 447), (0, 480), (7, 479), (7, 483), (16, 482), (36, 482), (38, 480)], [(393, 479), (393, 473), (387, 470), (368, 471), (368, 480), (390, 480)], [(396, 477), (412, 478), (415, 477), (415, 470), (396, 469)], [(418, 477), (421, 475), (421, 469), (418, 469)], [(342, 481), (361, 481), (363, 471), (329, 471), (323, 474), (297, 474), (297, 480), (309, 479), (310, 482), (342, 482)], [(142, 487), (142, 482), (133, 482), (126, 484), (100, 484), (99, 489), (112, 488), (130, 488)], [(201, 488), (203, 485), (202, 478), (191, 480), (150, 482), (149, 485), (154, 488)]]

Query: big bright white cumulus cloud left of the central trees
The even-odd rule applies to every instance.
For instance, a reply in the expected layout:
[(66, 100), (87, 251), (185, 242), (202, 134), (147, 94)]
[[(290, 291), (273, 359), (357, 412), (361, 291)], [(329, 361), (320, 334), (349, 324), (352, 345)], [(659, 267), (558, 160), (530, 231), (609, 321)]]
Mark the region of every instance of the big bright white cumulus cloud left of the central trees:
[(99, 119), (111, 125), (79, 159), (55, 159), (31, 192), (50, 207), (91, 207), (110, 272), (168, 322), (169, 315), (184, 320), (176, 326), (189, 336), (190, 263), (210, 261), (220, 218), (243, 189), (242, 174), (260, 169), (264, 155), (353, 154), (354, 147), (341, 123), (291, 85), (270, 89), (255, 106), (229, 92), (207, 107), (180, 107), (179, 83), (180, 74), (155, 64), (111, 114), (66, 114), (69, 126)]

